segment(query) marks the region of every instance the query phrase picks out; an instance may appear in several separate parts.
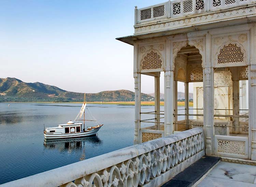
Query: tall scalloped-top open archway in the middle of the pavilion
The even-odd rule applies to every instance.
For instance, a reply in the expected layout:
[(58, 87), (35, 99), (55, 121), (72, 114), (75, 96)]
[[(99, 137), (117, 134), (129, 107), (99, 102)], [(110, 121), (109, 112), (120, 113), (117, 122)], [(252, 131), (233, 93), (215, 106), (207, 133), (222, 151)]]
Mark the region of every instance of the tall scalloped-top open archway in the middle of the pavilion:
[[(203, 126), (202, 55), (195, 46), (187, 45), (174, 60), (174, 131)], [(182, 94), (184, 92), (184, 95)]]

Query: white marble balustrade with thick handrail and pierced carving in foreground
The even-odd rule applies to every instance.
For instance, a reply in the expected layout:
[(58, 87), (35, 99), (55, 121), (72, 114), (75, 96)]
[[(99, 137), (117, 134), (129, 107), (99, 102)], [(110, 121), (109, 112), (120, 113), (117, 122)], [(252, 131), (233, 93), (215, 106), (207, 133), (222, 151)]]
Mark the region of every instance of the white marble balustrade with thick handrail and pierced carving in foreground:
[(203, 129), (194, 128), (0, 186), (160, 186), (203, 155)]

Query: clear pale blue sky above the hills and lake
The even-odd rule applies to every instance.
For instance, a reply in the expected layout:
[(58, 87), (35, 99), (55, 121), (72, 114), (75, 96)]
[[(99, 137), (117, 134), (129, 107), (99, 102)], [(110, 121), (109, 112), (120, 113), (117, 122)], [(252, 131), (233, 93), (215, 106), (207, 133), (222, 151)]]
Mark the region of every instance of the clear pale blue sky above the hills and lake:
[[(0, 78), (42, 82), (75, 92), (134, 91), (134, 6), (167, 0), (1, 0)], [(160, 91), (163, 93), (163, 74)], [(178, 91), (184, 92), (183, 84)], [(142, 92), (154, 92), (142, 76)]]

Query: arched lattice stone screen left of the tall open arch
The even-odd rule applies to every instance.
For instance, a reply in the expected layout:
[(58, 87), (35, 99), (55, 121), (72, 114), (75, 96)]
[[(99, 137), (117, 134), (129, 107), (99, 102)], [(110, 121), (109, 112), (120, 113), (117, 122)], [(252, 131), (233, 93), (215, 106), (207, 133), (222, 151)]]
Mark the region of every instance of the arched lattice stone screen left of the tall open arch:
[(142, 60), (142, 70), (159, 69), (162, 67), (162, 58), (157, 52), (147, 53)]

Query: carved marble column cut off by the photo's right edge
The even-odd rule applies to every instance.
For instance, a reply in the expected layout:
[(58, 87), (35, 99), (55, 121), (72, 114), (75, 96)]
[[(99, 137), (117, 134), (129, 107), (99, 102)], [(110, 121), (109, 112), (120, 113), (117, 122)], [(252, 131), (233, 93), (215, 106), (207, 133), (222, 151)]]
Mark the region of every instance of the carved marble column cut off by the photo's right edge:
[[(251, 130), (251, 159), (256, 160), (256, 65), (248, 66), (249, 131)], [(249, 133), (250, 138), (250, 133)], [(249, 148), (250, 149), (250, 148)]]

